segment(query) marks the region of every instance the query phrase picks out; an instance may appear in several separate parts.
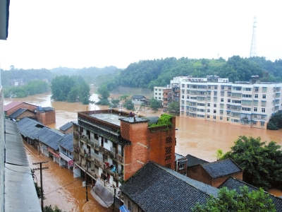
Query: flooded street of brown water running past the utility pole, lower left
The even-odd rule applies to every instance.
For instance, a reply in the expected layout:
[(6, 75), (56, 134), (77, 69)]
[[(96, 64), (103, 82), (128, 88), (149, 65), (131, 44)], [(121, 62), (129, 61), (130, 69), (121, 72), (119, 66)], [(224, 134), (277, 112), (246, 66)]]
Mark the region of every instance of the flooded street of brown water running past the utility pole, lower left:
[[(32, 163), (40, 161), (49, 161), (43, 167), (49, 167), (43, 170), (43, 188), (44, 188), (44, 206), (52, 205), (58, 206), (62, 211), (111, 211), (110, 208), (100, 206), (90, 194), (88, 188), (88, 199), (85, 198), (85, 187), (82, 187), (82, 181), (79, 178), (73, 178), (73, 172), (59, 164), (54, 163), (50, 158), (44, 155), (38, 155), (37, 151), (27, 143), (25, 144), (25, 152), (31, 168), (38, 167)], [(40, 172), (35, 171), (35, 182), (40, 185)]]

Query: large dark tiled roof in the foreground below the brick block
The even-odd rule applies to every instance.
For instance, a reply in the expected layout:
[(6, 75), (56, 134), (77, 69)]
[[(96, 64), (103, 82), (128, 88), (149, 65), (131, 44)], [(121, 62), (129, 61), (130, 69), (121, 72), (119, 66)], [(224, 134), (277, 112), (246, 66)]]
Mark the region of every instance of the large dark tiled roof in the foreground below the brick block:
[(191, 211), (218, 189), (180, 175), (155, 163), (147, 163), (130, 177), (121, 191), (143, 211)]

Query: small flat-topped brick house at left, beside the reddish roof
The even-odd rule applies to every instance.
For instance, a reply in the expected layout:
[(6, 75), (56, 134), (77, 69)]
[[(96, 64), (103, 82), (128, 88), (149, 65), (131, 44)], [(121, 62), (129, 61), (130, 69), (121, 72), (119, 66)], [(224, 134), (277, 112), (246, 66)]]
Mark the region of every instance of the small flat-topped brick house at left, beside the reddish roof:
[(53, 107), (37, 107), (35, 112), (38, 122), (45, 125), (56, 123), (56, 112)]

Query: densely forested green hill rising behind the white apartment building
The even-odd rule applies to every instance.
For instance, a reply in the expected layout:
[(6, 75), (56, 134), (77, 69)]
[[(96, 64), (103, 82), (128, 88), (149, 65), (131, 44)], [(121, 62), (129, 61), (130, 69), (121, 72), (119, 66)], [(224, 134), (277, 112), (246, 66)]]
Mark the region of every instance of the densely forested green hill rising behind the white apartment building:
[(205, 77), (217, 75), (230, 81), (249, 81), (259, 75), (262, 81), (282, 81), (282, 60), (269, 61), (264, 57), (225, 59), (166, 58), (139, 61), (109, 80), (109, 90), (116, 86), (153, 88), (165, 86), (174, 76)]

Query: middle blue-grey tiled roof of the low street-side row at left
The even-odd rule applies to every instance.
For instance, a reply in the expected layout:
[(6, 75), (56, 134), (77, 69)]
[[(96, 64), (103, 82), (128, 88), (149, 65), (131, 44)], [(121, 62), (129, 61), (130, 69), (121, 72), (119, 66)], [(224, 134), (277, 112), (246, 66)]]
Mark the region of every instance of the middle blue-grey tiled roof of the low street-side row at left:
[(40, 142), (57, 151), (59, 150), (59, 142), (63, 139), (64, 134), (59, 130), (44, 127), (38, 132), (38, 136)]

